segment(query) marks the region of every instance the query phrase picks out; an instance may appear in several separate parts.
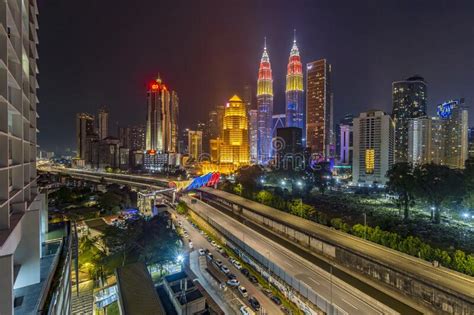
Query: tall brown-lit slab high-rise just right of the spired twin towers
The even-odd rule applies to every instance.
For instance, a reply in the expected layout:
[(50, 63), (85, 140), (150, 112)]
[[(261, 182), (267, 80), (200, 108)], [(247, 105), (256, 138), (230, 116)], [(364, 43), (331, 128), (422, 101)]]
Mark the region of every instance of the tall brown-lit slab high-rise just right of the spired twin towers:
[(334, 156), (331, 71), (326, 59), (306, 65), (306, 145), (324, 159)]

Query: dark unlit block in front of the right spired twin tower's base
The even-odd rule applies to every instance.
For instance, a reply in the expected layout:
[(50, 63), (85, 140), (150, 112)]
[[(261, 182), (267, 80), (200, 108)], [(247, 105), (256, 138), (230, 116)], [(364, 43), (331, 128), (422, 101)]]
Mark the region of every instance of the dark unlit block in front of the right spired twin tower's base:
[(275, 145), (276, 165), (285, 170), (301, 168), (304, 163), (303, 131), (301, 128), (278, 128), (277, 137), (278, 145)]

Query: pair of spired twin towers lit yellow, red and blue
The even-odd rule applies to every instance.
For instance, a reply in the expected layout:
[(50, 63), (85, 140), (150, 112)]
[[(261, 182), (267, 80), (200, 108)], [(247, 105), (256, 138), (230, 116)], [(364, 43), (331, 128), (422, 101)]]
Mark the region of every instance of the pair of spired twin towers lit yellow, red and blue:
[[(286, 127), (304, 129), (303, 67), (296, 39), (290, 51), (286, 74)], [(267, 44), (263, 48), (257, 80), (257, 147), (258, 163), (266, 164), (272, 158), (273, 77)]]

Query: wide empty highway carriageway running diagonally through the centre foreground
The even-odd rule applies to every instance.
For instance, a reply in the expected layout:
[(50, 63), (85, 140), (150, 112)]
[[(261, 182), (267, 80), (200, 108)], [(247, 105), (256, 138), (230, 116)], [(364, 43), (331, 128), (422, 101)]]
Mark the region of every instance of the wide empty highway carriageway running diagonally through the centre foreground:
[[(191, 197), (181, 197), (188, 206), (198, 213), (205, 213), (225, 227), (230, 233), (260, 253), (268, 253), (273, 263), (283, 268), (288, 274), (305, 283), (309, 288), (322, 296), (326, 301), (347, 314), (381, 314), (371, 303), (357, 297), (364, 296), (356, 289), (346, 290), (335, 283), (335, 278), (318, 266), (310, 263), (292, 251), (262, 236), (242, 223), (230, 218), (208, 204), (198, 201), (191, 203)], [(368, 299), (367, 299), (368, 300)]]

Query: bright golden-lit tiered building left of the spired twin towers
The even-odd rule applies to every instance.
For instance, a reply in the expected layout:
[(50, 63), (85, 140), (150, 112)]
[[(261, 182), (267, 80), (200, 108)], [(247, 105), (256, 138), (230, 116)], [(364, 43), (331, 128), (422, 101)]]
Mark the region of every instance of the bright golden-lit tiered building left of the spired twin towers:
[(234, 95), (225, 106), (222, 129), (224, 137), (220, 162), (233, 164), (234, 167), (249, 164), (247, 110), (237, 95)]

